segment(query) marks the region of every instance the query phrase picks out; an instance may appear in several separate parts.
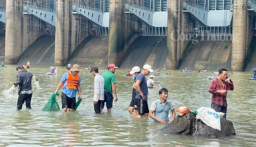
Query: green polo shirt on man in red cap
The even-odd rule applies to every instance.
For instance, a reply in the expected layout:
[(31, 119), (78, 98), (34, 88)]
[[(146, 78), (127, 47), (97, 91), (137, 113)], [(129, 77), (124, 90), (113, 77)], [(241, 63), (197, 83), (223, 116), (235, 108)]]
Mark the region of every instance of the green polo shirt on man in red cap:
[(108, 91), (113, 94), (111, 83), (116, 84), (116, 75), (108, 70), (102, 73), (101, 76), (104, 78), (104, 92)]

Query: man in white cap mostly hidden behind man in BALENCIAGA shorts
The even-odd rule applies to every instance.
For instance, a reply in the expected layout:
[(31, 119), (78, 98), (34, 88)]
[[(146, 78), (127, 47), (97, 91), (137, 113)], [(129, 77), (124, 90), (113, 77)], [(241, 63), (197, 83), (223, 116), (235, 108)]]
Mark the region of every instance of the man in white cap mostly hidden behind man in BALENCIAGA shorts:
[[(140, 74), (140, 67), (133, 67), (132, 68), (132, 71), (130, 72), (130, 74), (134, 74), (135, 77), (134, 77), (134, 82), (135, 82), (135, 79), (136, 79), (136, 76), (138, 74)], [(132, 115), (136, 115), (138, 116), (138, 110), (137, 110), (137, 105), (135, 103), (135, 97), (136, 97), (136, 92), (135, 92), (135, 89), (132, 88), (132, 101), (129, 105), (129, 109), (128, 111), (132, 114)], [(135, 109), (135, 112), (133, 111)]]

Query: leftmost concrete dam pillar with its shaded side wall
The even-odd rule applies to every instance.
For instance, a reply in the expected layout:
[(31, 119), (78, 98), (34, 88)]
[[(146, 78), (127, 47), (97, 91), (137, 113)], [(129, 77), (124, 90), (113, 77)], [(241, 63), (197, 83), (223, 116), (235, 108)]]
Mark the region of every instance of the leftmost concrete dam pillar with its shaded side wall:
[[(39, 6), (45, 7), (47, 0)], [(20, 55), (39, 36), (45, 34), (45, 23), (34, 16), (24, 16), (24, 5), (37, 5), (36, 1), (6, 0), (5, 64), (16, 64)], [(30, 61), (33, 65), (33, 61)], [(24, 63), (25, 64), (25, 63)]]

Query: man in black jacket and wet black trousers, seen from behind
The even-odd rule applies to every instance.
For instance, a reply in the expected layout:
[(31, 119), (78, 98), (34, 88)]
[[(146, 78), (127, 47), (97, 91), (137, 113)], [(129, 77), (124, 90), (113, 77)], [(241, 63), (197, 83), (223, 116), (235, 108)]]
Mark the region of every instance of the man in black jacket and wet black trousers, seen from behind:
[(24, 70), (24, 67), (19, 64), (16, 67), (16, 71), (18, 71), (17, 74), (17, 82), (14, 83), (14, 87), (17, 87), (19, 85), (19, 90), (18, 90), (18, 102), (17, 102), (17, 110), (22, 109), (23, 103), (26, 101), (26, 108), (31, 109), (30, 103), (31, 103), (31, 98), (32, 98), (32, 76), (33, 74), (27, 72)]

